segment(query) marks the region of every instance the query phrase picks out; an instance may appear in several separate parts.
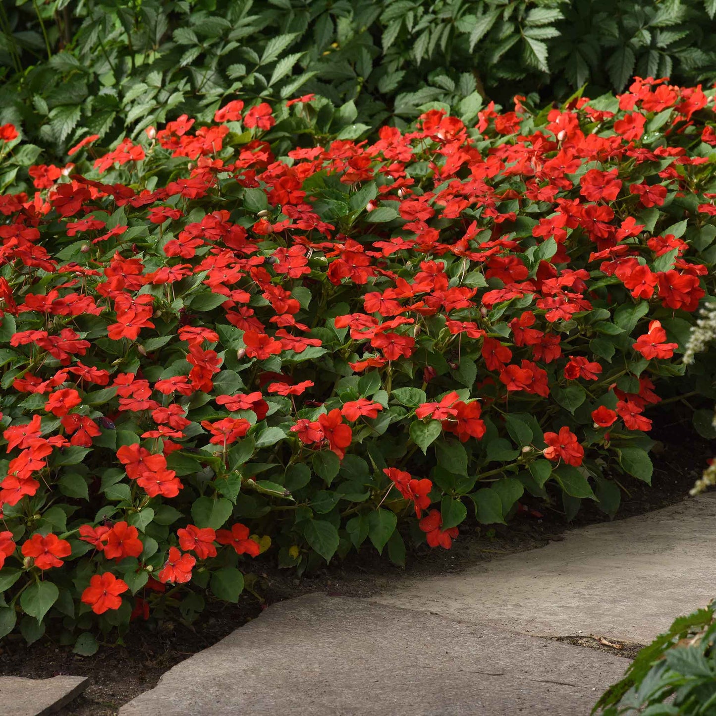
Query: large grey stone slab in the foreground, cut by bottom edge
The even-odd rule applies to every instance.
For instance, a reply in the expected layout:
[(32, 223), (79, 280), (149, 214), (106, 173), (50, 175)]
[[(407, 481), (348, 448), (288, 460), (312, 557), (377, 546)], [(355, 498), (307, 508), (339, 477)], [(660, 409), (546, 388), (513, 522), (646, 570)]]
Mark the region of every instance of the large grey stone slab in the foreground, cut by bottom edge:
[(364, 599), (269, 607), (120, 716), (586, 716), (627, 660)]

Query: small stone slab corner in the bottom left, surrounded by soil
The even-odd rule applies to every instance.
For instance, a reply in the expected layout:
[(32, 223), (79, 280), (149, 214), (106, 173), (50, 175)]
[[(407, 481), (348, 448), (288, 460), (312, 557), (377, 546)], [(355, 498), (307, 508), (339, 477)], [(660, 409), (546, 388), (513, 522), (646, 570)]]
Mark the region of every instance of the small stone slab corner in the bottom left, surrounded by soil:
[(89, 686), (82, 676), (52, 679), (0, 677), (0, 716), (45, 716), (69, 704)]

